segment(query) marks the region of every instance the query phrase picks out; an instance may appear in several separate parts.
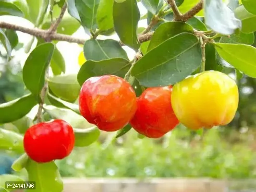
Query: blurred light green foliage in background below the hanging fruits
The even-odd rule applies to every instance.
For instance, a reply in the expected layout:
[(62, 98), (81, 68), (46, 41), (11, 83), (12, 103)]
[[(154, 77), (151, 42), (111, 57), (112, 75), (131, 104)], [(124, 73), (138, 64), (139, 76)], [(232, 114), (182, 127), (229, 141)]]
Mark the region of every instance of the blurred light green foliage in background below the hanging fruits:
[(158, 140), (138, 139), (131, 131), (107, 147), (76, 148), (57, 165), (63, 177), (256, 178), (253, 134), (227, 129), (200, 137), (179, 126)]

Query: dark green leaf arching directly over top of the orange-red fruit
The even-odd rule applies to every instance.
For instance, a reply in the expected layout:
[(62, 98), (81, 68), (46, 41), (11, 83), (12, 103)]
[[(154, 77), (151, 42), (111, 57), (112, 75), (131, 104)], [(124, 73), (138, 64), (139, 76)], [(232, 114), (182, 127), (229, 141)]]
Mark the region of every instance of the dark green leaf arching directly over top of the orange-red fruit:
[(130, 62), (122, 58), (112, 58), (101, 61), (87, 60), (80, 68), (77, 74), (77, 80), (82, 86), (88, 78), (94, 76), (113, 74), (124, 77), (130, 67)]

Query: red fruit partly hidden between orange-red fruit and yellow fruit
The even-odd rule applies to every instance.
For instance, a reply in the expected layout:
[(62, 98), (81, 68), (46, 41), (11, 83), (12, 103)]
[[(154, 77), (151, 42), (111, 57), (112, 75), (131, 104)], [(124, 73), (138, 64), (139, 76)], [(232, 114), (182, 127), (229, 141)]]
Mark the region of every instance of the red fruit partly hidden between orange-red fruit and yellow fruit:
[(137, 132), (149, 138), (162, 137), (178, 125), (171, 107), (172, 86), (147, 88), (137, 99), (137, 111), (130, 121)]

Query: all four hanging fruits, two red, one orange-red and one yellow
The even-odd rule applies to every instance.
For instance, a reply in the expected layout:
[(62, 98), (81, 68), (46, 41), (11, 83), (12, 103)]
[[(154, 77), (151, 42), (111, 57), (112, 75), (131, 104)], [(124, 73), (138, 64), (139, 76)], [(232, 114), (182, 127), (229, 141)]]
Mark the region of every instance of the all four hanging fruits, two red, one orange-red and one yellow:
[[(103, 75), (85, 81), (79, 107), (102, 131), (130, 123), (146, 137), (160, 138), (179, 123), (193, 130), (226, 125), (234, 118), (238, 99), (235, 81), (217, 71), (189, 76), (174, 86), (149, 87), (139, 97), (123, 78)], [(74, 132), (64, 120), (36, 124), (24, 135), (24, 149), (37, 162), (64, 158), (73, 147)]]

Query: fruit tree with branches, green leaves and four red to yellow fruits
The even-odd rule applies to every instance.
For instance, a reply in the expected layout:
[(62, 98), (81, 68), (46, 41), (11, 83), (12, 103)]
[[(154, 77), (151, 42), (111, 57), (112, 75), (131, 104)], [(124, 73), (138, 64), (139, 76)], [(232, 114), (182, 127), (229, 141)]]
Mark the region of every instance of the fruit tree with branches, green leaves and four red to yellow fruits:
[[(155, 139), (178, 124), (195, 131), (229, 124), (237, 80), (256, 78), (256, 0), (0, 0), (0, 15), (33, 24), (0, 21), (6, 62), (17, 31), (32, 37), (23, 47), (27, 94), (0, 105), (0, 124), (18, 131), (0, 128), (0, 149), (19, 154), (12, 169), (26, 170), (35, 192), (62, 192), (55, 160), (101, 132), (114, 140), (133, 129)], [(81, 27), (90, 38), (72, 36)], [(83, 47), (77, 74), (66, 73), (61, 41)], [(0, 189), (22, 180), (2, 175)]]

